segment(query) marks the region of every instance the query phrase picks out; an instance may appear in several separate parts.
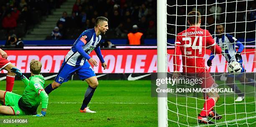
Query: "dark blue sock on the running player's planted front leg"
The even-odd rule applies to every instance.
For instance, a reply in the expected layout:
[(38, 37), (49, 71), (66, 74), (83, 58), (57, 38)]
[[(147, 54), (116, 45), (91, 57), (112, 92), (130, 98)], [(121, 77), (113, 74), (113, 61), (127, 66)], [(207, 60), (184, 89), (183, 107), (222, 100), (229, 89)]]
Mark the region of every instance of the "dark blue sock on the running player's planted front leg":
[[(96, 88), (97, 88), (97, 87), (96, 87)], [(85, 94), (84, 94), (84, 101), (83, 101), (83, 104), (82, 104), (82, 106), (81, 106), (81, 108), (80, 108), (81, 110), (84, 110), (84, 108), (87, 107), (87, 105), (89, 104), (89, 102), (90, 102), (91, 99), (92, 99), (92, 96), (93, 96), (93, 94), (94, 94), (96, 88), (93, 88), (93, 87), (91, 87), (91, 86), (88, 86), (88, 88), (87, 88), (87, 90), (86, 90), (86, 92), (85, 92)]]

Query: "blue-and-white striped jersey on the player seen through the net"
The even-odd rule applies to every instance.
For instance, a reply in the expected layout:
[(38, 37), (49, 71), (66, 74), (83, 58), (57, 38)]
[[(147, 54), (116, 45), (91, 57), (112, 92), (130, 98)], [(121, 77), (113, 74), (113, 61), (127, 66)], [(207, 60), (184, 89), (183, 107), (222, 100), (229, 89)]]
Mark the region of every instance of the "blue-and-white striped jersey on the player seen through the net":
[[(231, 61), (236, 61), (236, 46), (239, 47), (238, 51), (241, 49), (243, 51), (243, 44), (237, 41), (237, 39), (229, 34), (223, 34), (221, 38), (215, 36), (214, 41), (222, 49), (223, 56), (225, 56), (228, 63)], [(235, 43), (236, 42), (236, 43)], [(236, 46), (235, 46), (236, 44)], [(240, 51), (241, 52), (241, 51)], [(239, 62), (239, 61), (238, 61)]]

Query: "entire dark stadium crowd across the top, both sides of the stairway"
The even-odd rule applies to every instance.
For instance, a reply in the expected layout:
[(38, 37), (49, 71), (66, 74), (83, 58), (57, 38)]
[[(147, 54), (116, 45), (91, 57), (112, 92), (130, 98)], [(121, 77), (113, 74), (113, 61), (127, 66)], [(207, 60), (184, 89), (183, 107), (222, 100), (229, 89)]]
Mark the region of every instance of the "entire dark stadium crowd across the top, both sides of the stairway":
[[(41, 16), (51, 14), (51, 10), (59, 8), (66, 0), (0, 0), (0, 40), (6, 40), (8, 36), (15, 33), (18, 37), (23, 37), (28, 29), (32, 29), (42, 20)], [(210, 33), (215, 31), (215, 23), (229, 23), (226, 25), (227, 32), (241, 32), (255, 30), (256, 5), (248, 4), (246, 6), (239, 2), (237, 10), (233, 8), (236, 3), (220, 4), (223, 0), (207, 0), (207, 3), (198, 2), (198, 8), (194, 6), (167, 7), (169, 15), (186, 15), (191, 10), (198, 10), (202, 15), (202, 27), (207, 26)], [(168, 3), (175, 5), (176, 3)], [(178, 5), (186, 3), (178, 1)], [(188, 0), (188, 5), (195, 5), (195, 1)], [(207, 4), (205, 6), (204, 4)], [(212, 5), (211, 5), (212, 4)], [(216, 11), (215, 11), (216, 10)], [(225, 12), (229, 13), (225, 13)], [(236, 13), (238, 11), (238, 13)], [(216, 15), (215, 15), (216, 12)], [(246, 15), (247, 13), (247, 15)], [(204, 16), (207, 14), (207, 16)], [(143, 33), (144, 38), (156, 38), (156, 0), (77, 0), (72, 8), (72, 12), (63, 12), (62, 17), (53, 28), (52, 34), (46, 39), (75, 39), (81, 31), (94, 27), (94, 21), (97, 16), (105, 16), (109, 19), (109, 30), (105, 38), (127, 38), (128, 33), (133, 30), (133, 25), (138, 26), (138, 31)], [(227, 18), (228, 17), (228, 18)], [(236, 17), (236, 19), (235, 19)], [(247, 21), (247, 28), (244, 28)], [(253, 21), (254, 22), (251, 22)], [(176, 23), (177, 22), (177, 23)], [(237, 22), (237, 23), (235, 23)], [(184, 25), (186, 16), (167, 16), (167, 23)], [(236, 30), (234, 29), (236, 25)], [(181, 32), (184, 26), (167, 25), (167, 33), (175, 35)], [(58, 31), (56, 31), (58, 30)], [(24, 32), (25, 31), (25, 32)], [(238, 37), (244, 37), (243, 34), (237, 34)], [(246, 37), (255, 38), (253, 32), (246, 34)], [(169, 35), (168, 38), (173, 38)]]

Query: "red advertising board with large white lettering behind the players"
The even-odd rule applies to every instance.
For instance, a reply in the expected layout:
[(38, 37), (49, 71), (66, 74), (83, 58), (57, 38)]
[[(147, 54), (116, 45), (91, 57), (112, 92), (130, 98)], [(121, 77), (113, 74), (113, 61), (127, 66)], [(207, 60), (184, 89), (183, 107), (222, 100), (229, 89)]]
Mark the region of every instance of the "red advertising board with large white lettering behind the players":
[[(69, 50), (5, 50), (8, 60), (23, 73), (30, 73), (29, 63), (32, 59), (40, 60), (42, 73), (58, 73), (61, 63)], [(168, 54), (173, 54), (174, 49), (168, 49)], [(256, 71), (255, 48), (246, 48), (242, 53), (246, 72)], [(156, 49), (112, 49), (102, 50), (103, 58), (108, 64), (108, 69), (101, 66), (93, 67), (95, 73), (151, 73), (157, 70)], [(205, 54), (205, 61), (209, 58), (210, 50)], [(90, 54), (100, 63), (95, 52)], [(181, 57), (180, 57), (181, 59)], [(162, 61), (165, 62), (165, 61)], [(168, 71), (173, 71), (173, 56), (167, 55)], [(206, 62), (205, 62), (206, 64)], [(227, 62), (224, 56), (216, 55), (212, 61), (210, 72), (227, 72)], [(206, 65), (207, 66), (207, 65)], [(182, 71), (182, 68), (180, 68)], [(1, 71), (6, 73), (6, 71)]]

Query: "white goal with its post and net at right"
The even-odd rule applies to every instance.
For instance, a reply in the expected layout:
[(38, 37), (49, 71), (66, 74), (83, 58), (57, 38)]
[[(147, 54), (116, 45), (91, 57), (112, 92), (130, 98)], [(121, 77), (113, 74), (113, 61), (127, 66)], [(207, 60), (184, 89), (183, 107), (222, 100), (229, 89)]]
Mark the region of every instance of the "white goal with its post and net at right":
[[(166, 3), (164, 3), (163, 1)], [(255, 1), (158, 0), (157, 4), (158, 57), (160, 57), (158, 58), (158, 64), (161, 64), (161, 66), (158, 66), (158, 72), (165, 71), (168, 74), (173, 73), (173, 59), (175, 58), (175, 38), (177, 37), (178, 33), (189, 28), (189, 24), (187, 23), (187, 13), (192, 10), (199, 11), (201, 13), (200, 28), (208, 30), (213, 38), (220, 36), (218, 32), (216, 32), (216, 28), (218, 25), (222, 25), (224, 29), (224, 36), (230, 35), (233, 40), (235, 40), (230, 41), (230, 43), (232, 43), (232, 45), (236, 48), (236, 51), (238, 51), (239, 49), (239, 45), (237, 44), (238, 41), (243, 44), (244, 49), (241, 52), (241, 56), (243, 59), (242, 66), (246, 70), (245, 72), (242, 72), (242, 78), (233, 78), (233, 83), (232, 81), (227, 81), (229, 76), (229, 64), (228, 61), (226, 61), (225, 55), (223, 54), (228, 55), (229, 53), (223, 52), (222, 55), (215, 55), (215, 58), (212, 59), (212, 66), (208, 67), (207, 60), (210, 58), (211, 51), (210, 49), (207, 49), (204, 56), (205, 66), (207, 67), (208, 71), (210, 71), (215, 82), (218, 84), (218, 88), (233, 88), (233, 92), (232, 90), (219, 92), (220, 99), (218, 100), (218, 102), (215, 103), (214, 110), (220, 116), (222, 116), (222, 119), (216, 120), (214, 118), (208, 117), (207, 121), (212, 121), (215, 123), (200, 124), (198, 122), (197, 116), (203, 110), (202, 108), (205, 103), (205, 98), (202, 93), (199, 94), (190, 91), (183, 91), (180, 93), (169, 92), (167, 97), (159, 97), (158, 99), (159, 126), (169, 125), (171, 127), (256, 127)], [(162, 8), (159, 8), (161, 7), (160, 4), (162, 5)], [(163, 6), (166, 6), (166, 8), (164, 8)], [(164, 9), (166, 9), (166, 13), (160, 12)], [(163, 16), (161, 13), (164, 13), (164, 17), (161, 17)], [(164, 22), (166, 25), (162, 24)], [(164, 34), (164, 31), (166, 31), (167, 35)], [(160, 37), (166, 37), (167, 39), (161, 40)], [(222, 40), (224, 39), (222, 38)], [(220, 41), (222, 40), (220, 39)], [(222, 49), (226, 47), (226, 45), (220, 44), (223, 42), (217, 42), (217, 44)], [(166, 43), (166, 46), (164, 46), (162, 43)], [(160, 48), (159, 46), (166, 49), (163, 50), (163, 48)], [(179, 71), (182, 72), (181, 55), (179, 56), (179, 59), (181, 64), (177, 66), (180, 66)], [(166, 61), (166, 63), (163, 64), (163, 61)], [(162, 71), (163, 69), (165, 70)], [(247, 79), (249, 79), (249, 81)], [(179, 87), (178, 85), (174, 86), (176, 88)], [(169, 88), (169, 84), (167, 84), (167, 87)], [(193, 87), (200, 88), (200, 86)], [(190, 86), (184, 86), (182, 88), (190, 88)], [(238, 99), (238, 96), (242, 98), (241, 101), (236, 101), (236, 99)], [(163, 108), (166, 108), (166, 110), (163, 110)]]

